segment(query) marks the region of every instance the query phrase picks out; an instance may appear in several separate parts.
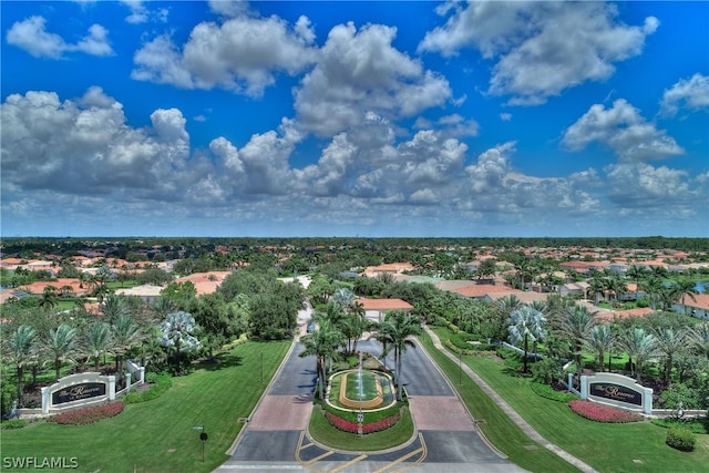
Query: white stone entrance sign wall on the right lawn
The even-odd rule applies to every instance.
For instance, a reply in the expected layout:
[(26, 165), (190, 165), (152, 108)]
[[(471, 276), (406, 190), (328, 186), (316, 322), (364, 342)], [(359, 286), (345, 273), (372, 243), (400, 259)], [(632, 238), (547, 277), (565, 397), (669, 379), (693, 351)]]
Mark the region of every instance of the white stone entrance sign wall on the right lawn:
[(615, 373), (596, 373), (580, 377), (580, 397), (584, 400), (604, 402), (620, 408), (653, 412), (653, 390), (633, 378)]

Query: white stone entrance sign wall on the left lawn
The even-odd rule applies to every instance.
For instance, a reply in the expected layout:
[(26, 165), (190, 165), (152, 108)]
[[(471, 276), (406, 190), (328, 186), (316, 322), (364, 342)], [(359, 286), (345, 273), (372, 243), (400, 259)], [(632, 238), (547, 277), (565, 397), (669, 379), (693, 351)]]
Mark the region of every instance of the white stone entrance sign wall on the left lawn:
[(42, 413), (115, 399), (115, 377), (101, 373), (79, 373), (42, 388)]

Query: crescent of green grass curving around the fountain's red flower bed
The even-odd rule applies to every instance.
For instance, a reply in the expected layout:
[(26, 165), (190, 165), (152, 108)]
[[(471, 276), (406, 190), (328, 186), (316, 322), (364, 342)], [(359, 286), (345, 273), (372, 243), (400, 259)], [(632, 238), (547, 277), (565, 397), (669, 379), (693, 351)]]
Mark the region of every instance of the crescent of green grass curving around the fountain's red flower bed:
[(411, 412), (404, 410), (401, 420), (392, 428), (367, 435), (342, 432), (335, 429), (319, 409), (312, 411), (308, 432), (317, 442), (332, 449), (353, 452), (386, 450), (407, 442), (413, 435)]

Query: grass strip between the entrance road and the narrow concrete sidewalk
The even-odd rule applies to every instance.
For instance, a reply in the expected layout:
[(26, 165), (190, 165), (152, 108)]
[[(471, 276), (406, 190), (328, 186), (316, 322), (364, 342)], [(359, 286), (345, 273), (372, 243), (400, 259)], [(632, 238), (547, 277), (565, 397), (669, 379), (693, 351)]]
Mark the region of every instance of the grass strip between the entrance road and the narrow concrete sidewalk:
[[(454, 363), (433, 347), (433, 342), (428, 335), (421, 336), (420, 340), (431, 358), (451, 380), (473, 418), (477, 421), (484, 421), (484, 423), (481, 422), (479, 424), (481, 431), (497, 450), (507, 455), (510, 461), (532, 472), (578, 471), (543, 445), (530, 440), (470, 378), (464, 378), (462, 384), (459, 383), (458, 363)], [(536, 394), (532, 393), (532, 395)]]

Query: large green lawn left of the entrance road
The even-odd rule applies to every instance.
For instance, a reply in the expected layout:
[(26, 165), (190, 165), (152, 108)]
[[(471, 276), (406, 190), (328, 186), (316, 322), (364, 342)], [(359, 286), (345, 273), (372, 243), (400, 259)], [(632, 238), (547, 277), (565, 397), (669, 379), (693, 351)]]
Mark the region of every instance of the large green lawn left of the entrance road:
[[(244, 426), (238, 419), (251, 413), (289, 347), (288, 341), (242, 345), (218, 364), (174, 378), (161, 398), (129, 404), (95, 424), (40, 423), (3, 431), (2, 456), (78, 457), (80, 471), (213, 471), (228, 459), (225, 452)], [(209, 435), (204, 462), (196, 425)]]

